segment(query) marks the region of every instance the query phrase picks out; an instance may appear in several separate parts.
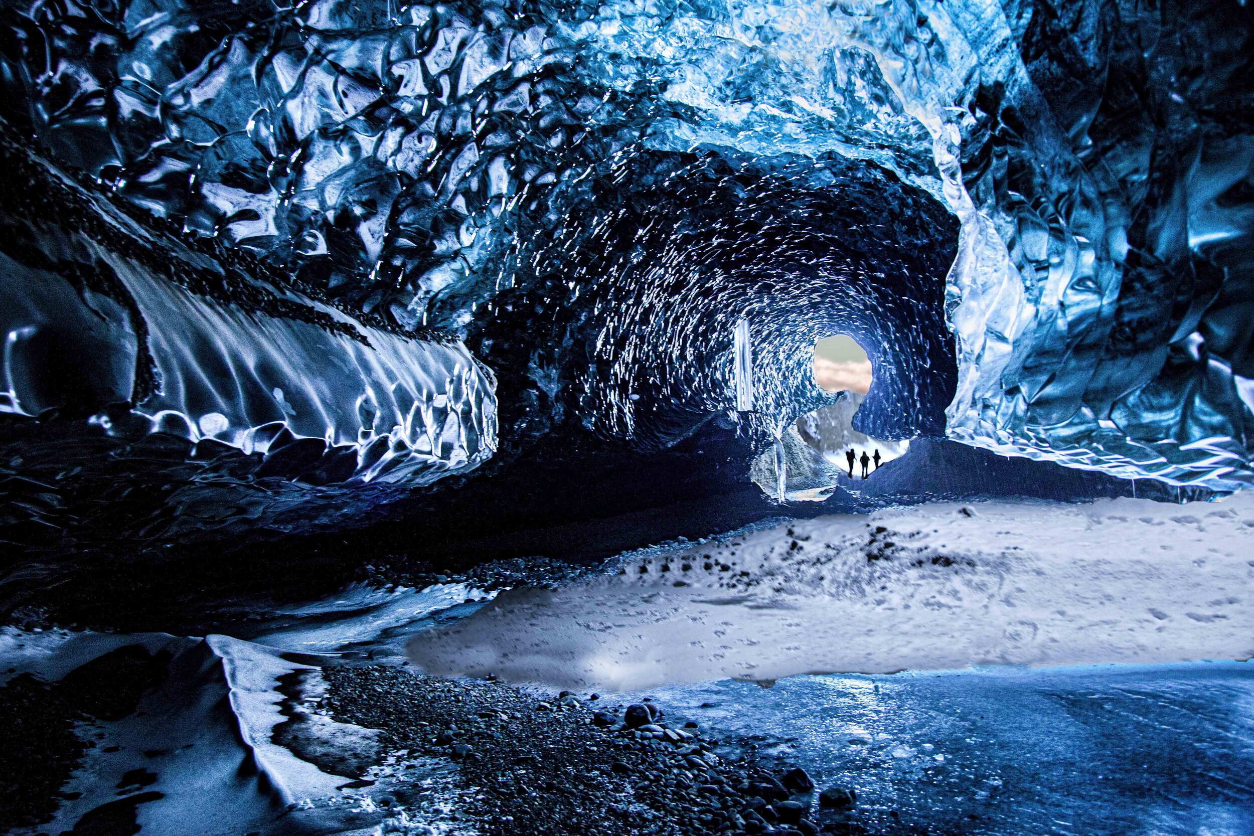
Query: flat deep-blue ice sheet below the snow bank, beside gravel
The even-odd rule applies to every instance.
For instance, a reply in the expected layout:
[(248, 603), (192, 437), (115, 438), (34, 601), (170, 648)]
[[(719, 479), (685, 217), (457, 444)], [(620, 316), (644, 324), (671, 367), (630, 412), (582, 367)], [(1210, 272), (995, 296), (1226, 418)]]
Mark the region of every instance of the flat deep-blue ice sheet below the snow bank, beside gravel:
[(874, 833), (1254, 833), (1249, 662), (725, 679), (647, 696), (820, 788), (855, 787), (851, 820)]

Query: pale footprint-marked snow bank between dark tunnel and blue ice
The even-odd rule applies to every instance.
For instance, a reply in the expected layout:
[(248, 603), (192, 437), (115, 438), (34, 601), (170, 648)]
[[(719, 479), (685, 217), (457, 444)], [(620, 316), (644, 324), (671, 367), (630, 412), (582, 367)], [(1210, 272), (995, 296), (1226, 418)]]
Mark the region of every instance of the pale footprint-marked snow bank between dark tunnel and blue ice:
[(726, 677), (1254, 656), (1254, 495), (935, 504), (781, 524), (513, 590), (416, 635), (440, 674), (623, 691)]

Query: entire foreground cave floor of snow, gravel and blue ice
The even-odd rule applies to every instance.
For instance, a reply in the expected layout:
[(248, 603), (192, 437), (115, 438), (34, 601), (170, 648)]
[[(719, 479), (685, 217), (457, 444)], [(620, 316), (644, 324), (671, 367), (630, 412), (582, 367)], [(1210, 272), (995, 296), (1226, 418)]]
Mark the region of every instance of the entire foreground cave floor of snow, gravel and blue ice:
[[(1114, 500), (1003, 514), (967, 504), (764, 524), (623, 554), (544, 588), (451, 578), (421, 590), (355, 584), (302, 604), (255, 603), (229, 634), (206, 638), (6, 627), (0, 827), (29, 836), (810, 827), (1248, 836), (1254, 667), (1248, 652), (1228, 649), (1254, 634), (1248, 505)], [(1159, 546), (1171, 544), (1179, 559), (1159, 560), (1157, 575), (1131, 564), (1115, 572), (1137, 560), (1110, 545), (1132, 541), (1129, 526), (1139, 548), (1165, 554)], [(930, 559), (940, 551), (925, 535), (943, 538), (944, 560)], [(841, 536), (856, 565), (840, 565), (850, 554)], [(1048, 549), (1075, 559), (1033, 563)], [(720, 550), (727, 570), (695, 556)], [(1066, 583), (1051, 565), (1063, 567)], [(839, 588), (828, 584), (835, 578)], [(1066, 584), (1104, 617), (1046, 618), (1057, 603), (1046, 592)], [(879, 672), (814, 673), (823, 668), (805, 666), (845, 657), (799, 654), (806, 635), (765, 629), (800, 624), (805, 634), (816, 599), (858, 630), (839, 639), (814, 628), (809, 642), (874, 648), (861, 669)], [(1014, 607), (999, 610), (1007, 600)], [(915, 623), (915, 610), (939, 620)], [(569, 629), (558, 629), (562, 618)], [(752, 652), (688, 640), (675, 629), (685, 622), (717, 638), (756, 630), (737, 642)], [(940, 642), (966, 635), (983, 662), (938, 654), (932, 666), (893, 667), (905, 658), (885, 651), (894, 629), (944, 622), (958, 629)], [(670, 632), (670, 647), (656, 635), (623, 643), (651, 625)], [(572, 640), (581, 630), (603, 640)], [(1072, 640), (1086, 634), (1104, 638)], [(1055, 639), (1099, 657), (1022, 656)], [(1180, 648), (1190, 644), (1213, 652), (1189, 661)], [(556, 666), (528, 662), (527, 648), (539, 645)], [(429, 651), (441, 647), (464, 669), (421, 673), (439, 668)], [(1102, 653), (1119, 664), (1101, 663)], [(722, 656), (754, 667), (711, 667)], [(859, 667), (846, 659), (844, 669)], [(573, 693), (563, 696), (567, 682)], [(655, 724), (624, 728), (626, 707), (648, 703), (662, 711)], [(795, 767), (815, 792), (790, 787), (800, 806), (779, 803), (786, 791), (766, 801), (805, 821), (750, 816)], [(856, 803), (821, 807), (826, 787), (855, 792)]]

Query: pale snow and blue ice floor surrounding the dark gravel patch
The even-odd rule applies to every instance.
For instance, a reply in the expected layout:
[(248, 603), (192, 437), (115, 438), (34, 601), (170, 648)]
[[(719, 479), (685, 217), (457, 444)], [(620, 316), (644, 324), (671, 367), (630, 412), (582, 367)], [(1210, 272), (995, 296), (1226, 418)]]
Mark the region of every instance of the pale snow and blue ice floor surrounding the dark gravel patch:
[[(409, 767), (316, 717), (308, 739), (275, 732), (317, 698), (320, 657), (399, 663), (408, 647), (436, 672), (604, 702), (648, 688), (672, 718), (855, 787), (870, 833), (1254, 836), (1254, 662), (1235, 661), (1254, 653), (1254, 498), (929, 505), (621, 568), (490, 603), (463, 584), (350, 587), (256, 612), (241, 638), (4, 628), (0, 681), (56, 679), (128, 643), (174, 657), (138, 712), (80, 727), (95, 747), (65, 790), (82, 795), (40, 830), (143, 770), (143, 832), (445, 832), (454, 767)], [(899, 669), (914, 672), (813, 676)], [(319, 770), (306, 750), (322, 745), (384, 758), (376, 783)], [(375, 803), (413, 781), (420, 808)]]

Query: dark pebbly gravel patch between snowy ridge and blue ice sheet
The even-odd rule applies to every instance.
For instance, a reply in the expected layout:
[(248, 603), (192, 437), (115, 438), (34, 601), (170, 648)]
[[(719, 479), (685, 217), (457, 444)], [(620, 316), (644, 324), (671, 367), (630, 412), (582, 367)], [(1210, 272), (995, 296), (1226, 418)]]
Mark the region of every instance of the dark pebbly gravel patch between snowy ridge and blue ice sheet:
[[(785, 765), (756, 762), (652, 702), (540, 699), (492, 681), (394, 667), (326, 668), (322, 711), (460, 765), (468, 830), (489, 836), (863, 833), (856, 801)], [(774, 768), (772, 768), (774, 767)], [(396, 802), (404, 805), (404, 798)]]

